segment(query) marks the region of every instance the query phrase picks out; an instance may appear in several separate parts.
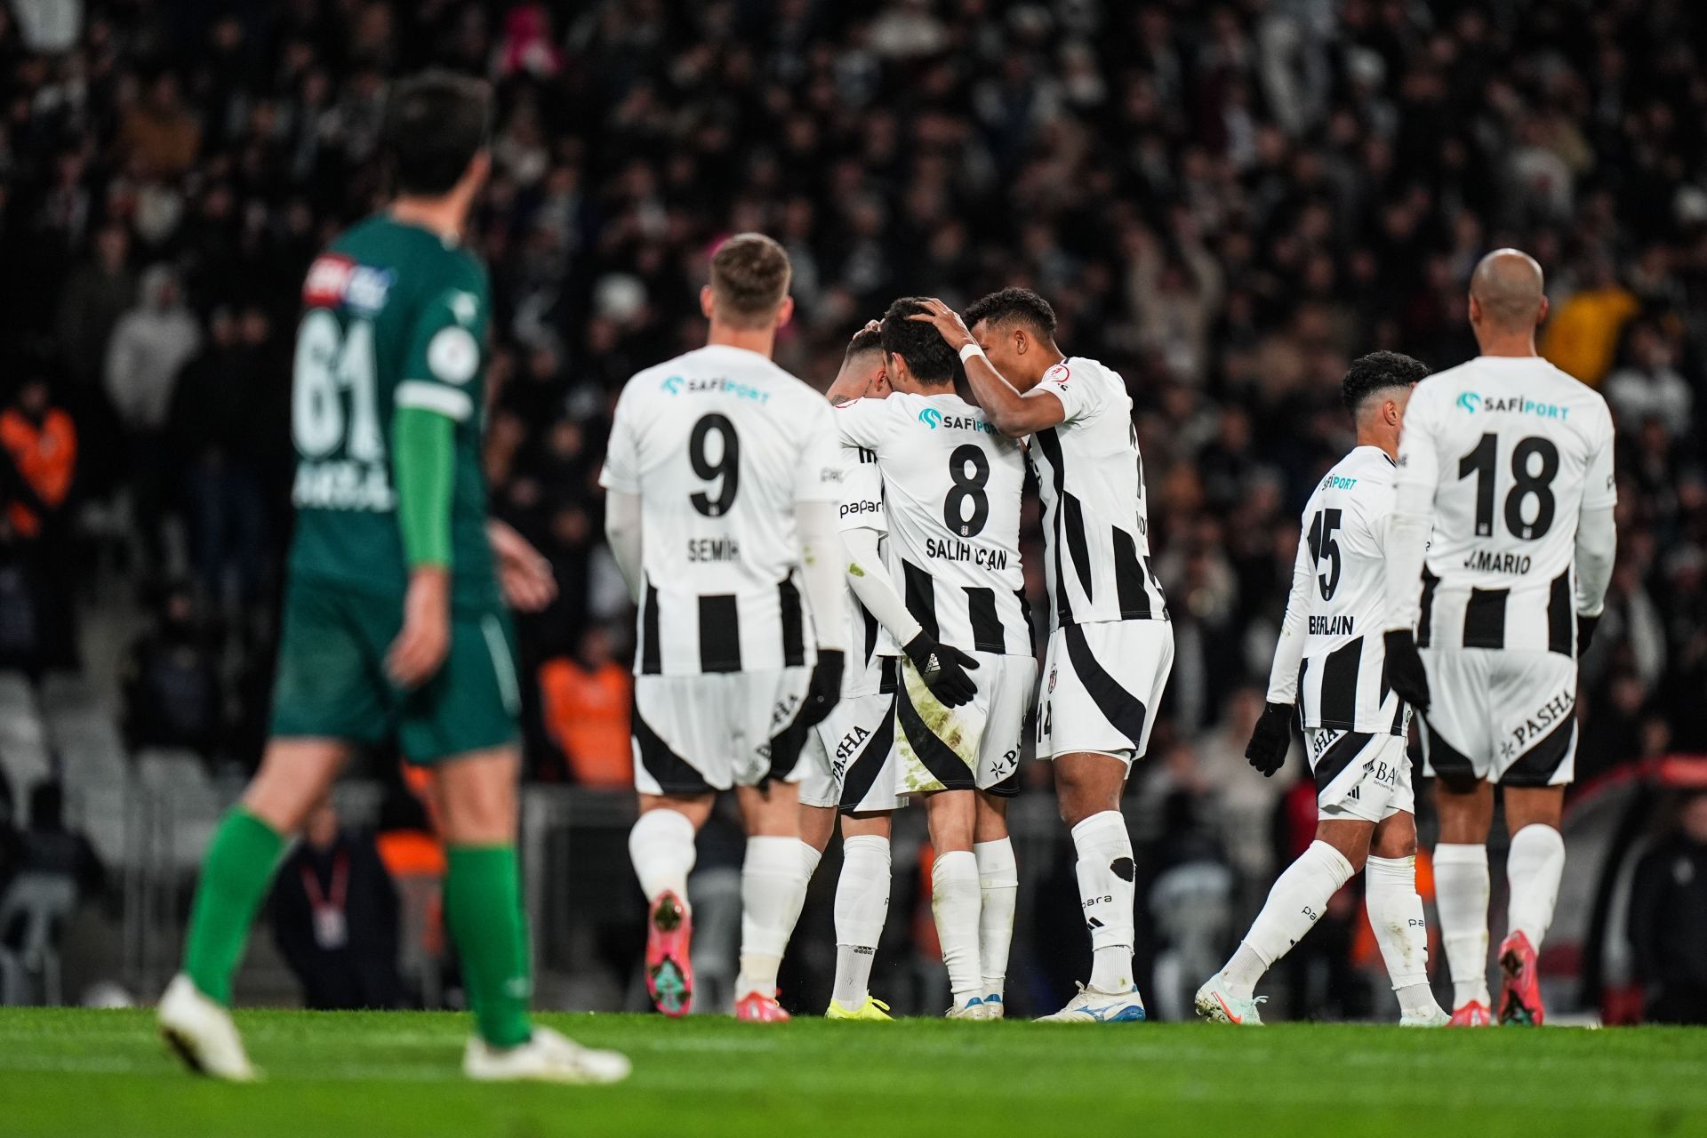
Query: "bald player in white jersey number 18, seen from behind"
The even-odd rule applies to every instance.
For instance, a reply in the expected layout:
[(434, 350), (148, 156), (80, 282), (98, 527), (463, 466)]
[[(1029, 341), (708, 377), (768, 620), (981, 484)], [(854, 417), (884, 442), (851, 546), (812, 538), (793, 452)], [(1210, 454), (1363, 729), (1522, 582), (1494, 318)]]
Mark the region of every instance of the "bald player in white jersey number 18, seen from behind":
[(1617, 546), (1611, 415), (1535, 353), (1545, 317), (1533, 258), (1499, 249), (1477, 264), (1470, 326), (1482, 355), (1412, 396), (1388, 537), (1388, 674), (1422, 713), (1437, 780), (1434, 885), (1461, 1025), (1490, 1019), (1495, 785), (1511, 833), (1497, 1015), (1543, 1017), (1536, 952), (1565, 865), (1558, 816), (1576, 769), (1577, 653)]

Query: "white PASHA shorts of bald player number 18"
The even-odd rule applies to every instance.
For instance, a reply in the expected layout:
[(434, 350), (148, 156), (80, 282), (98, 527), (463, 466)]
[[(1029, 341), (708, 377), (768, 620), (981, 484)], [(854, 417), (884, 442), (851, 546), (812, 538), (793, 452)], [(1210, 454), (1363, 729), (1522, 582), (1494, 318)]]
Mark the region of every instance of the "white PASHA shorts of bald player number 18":
[(1577, 662), (1558, 652), (1424, 648), (1427, 773), (1564, 787), (1577, 769)]

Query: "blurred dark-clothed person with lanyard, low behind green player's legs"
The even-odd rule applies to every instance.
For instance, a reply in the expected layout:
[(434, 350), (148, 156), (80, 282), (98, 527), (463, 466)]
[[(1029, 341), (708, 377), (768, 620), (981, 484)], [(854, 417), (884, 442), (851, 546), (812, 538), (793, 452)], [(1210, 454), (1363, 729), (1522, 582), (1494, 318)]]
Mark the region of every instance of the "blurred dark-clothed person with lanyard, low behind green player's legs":
[(309, 814), (302, 841), (278, 867), (271, 913), (302, 1007), (401, 1005), (398, 892), (374, 838), (340, 827), (329, 802)]

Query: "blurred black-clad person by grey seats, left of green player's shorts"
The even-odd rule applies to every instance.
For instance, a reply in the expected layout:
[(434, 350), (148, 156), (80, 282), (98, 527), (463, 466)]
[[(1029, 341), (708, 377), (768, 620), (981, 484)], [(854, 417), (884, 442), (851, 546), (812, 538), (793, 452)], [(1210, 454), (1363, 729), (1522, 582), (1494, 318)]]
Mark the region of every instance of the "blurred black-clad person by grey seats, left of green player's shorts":
[(207, 761), (218, 754), (227, 735), (225, 682), (189, 589), (160, 590), (154, 623), (125, 653), (119, 679), (131, 751), (183, 747)]

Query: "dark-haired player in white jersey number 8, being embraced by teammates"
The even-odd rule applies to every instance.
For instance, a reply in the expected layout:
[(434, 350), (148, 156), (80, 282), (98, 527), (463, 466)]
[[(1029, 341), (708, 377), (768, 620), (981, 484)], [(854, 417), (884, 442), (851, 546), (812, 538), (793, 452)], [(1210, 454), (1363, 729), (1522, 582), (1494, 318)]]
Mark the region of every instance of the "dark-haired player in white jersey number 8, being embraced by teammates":
[(1036, 682), (1019, 566), (1026, 471), (1019, 444), (954, 392), (954, 351), (908, 319), (922, 311), (903, 297), (883, 317), (893, 394), (836, 408), (843, 447), (877, 456), (889, 512), (883, 558), (872, 531), (843, 536), (848, 585), (906, 657), (896, 790), (925, 798), (949, 1015), (999, 1019), (1019, 892), (1007, 797)]

